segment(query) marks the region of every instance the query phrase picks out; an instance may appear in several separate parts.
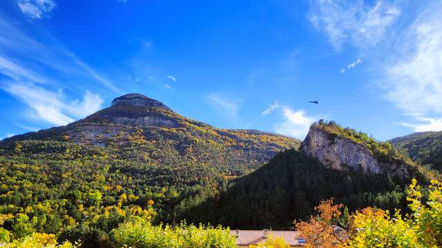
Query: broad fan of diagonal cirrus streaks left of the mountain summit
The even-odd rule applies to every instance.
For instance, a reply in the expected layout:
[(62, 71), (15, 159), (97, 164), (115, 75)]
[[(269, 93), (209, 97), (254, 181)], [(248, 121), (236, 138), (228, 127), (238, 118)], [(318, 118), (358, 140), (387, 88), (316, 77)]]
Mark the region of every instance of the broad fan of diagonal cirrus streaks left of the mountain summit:
[[(23, 105), (24, 125), (66, 125), (99, 110), (103, 100), (98, 94), (88, 90), (77, 97), (63, 94), (77, 92), (73, 86), (81, 87), (83, 81), (117, 90), (61, 45), (35, 41), (1, 17), (0, 29), (4, 31), (0, 32), (0, 90)], [(66, 80), (75, 81), (75, 85)]]

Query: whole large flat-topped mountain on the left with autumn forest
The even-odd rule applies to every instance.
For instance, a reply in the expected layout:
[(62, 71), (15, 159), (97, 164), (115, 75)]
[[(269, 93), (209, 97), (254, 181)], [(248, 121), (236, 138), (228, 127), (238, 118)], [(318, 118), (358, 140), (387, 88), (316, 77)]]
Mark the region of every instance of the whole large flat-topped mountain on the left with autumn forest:
[(106, 238), (131, 216), (179, 223), (231, 178), (299, 143), (218, 129), (146, 96), (122, 96), (83, 120), (1, 143), (0, 225), (16, 237), (38, 231), (75, 241)]

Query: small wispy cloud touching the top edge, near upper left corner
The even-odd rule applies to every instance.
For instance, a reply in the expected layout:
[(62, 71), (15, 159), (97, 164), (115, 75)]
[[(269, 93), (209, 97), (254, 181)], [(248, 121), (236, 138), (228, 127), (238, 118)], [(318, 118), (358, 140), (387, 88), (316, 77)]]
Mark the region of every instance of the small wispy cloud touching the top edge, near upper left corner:
[(17, 4), (30, 19), (42, 19), (55, 8), (52, 0), (18, 0)]

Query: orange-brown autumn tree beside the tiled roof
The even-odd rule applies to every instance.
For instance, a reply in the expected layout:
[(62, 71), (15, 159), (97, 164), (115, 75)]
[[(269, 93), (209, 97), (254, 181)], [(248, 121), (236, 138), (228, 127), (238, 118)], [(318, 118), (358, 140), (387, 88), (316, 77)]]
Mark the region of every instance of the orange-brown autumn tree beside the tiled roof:
[(341, 216), (342, 204), (334, 205), (333, 199), (323, 200), (315, 207), (318, 216), (310, 216), (307, 222), (294, 225), (302, 238), (307, 241), (307, 247), (344, 247), (347, 242), (347, 235), (343, 229), (334, 225), (338, 223)]

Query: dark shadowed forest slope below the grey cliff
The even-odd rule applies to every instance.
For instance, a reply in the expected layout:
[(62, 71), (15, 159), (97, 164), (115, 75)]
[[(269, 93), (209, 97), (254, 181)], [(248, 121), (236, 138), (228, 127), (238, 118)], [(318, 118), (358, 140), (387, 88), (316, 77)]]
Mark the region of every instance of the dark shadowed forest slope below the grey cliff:
[(344, 203), (349, 211), (366, 206), (390, 210), (405, 207), (403, 189), (408, 183), (410, 178), (327, 169), (292, 149), (182, 217), (193, 223), (210, 222), (232, 229), (285, 229), (293, 220), (309, 218), (314, 206), (328, 198)]

